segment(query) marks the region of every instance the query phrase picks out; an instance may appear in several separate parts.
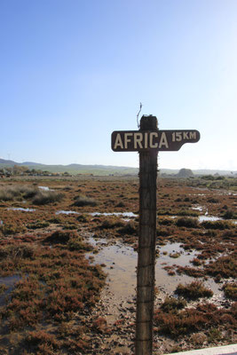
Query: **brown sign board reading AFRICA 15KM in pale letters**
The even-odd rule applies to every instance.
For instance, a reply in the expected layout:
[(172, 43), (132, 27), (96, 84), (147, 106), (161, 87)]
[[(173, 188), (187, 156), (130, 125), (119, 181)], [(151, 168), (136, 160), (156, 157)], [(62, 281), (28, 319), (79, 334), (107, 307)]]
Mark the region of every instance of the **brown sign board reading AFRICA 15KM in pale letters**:
[(185, 143), (196, 143), (199, 139), (198, 130), (115, 130), (111, 146), (115, 152), (177, 151)]

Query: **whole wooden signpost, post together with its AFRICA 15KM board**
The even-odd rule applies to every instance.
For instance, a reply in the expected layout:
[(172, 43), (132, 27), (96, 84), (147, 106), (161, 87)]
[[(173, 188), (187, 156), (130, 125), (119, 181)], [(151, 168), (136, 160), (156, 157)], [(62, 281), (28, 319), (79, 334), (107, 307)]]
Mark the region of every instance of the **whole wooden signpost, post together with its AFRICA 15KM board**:
[(141, 117), (139, 130), (112, 133), (115, 152), (139, 153), (136, 355), (152, 355), (153, 351), (157, 154), (178, 151), (185, 143), (199, 139), (198, 130), (158, 130), (153, 115)]

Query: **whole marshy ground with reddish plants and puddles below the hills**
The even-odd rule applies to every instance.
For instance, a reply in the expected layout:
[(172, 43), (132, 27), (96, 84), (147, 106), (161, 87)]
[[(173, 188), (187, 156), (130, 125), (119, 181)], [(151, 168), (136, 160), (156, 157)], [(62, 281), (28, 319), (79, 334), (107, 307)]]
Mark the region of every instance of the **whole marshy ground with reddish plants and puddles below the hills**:
[[(154, 354), (236, 343), (236, 178), (159, 178)], [(0, 351), (132, 354), (137, 177), (0, 182)]]

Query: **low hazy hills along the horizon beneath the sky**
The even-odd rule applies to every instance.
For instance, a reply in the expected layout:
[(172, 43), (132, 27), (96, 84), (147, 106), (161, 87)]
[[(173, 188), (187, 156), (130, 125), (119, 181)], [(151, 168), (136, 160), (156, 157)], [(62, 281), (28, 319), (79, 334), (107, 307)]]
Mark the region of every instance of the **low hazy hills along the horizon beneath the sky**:
[[(138, 168), (118, 167), (113, 165), (46, 165), (39, 162), (13, 162), (10, 160), (0, 159), (0, 169), (12, 167), (13, 165), (26, 166), (30, 170), (47, 170), (49, 172), (68, 172), (71, 175), (76, 174), (93, 174), (93, 175), (138, 175)], [(160, 174), (163, 176), (176, 175), (179, 170), (161, 169)], [(195, 175), (236, 175), (237, 171), (230, 170), (192, 170)]]

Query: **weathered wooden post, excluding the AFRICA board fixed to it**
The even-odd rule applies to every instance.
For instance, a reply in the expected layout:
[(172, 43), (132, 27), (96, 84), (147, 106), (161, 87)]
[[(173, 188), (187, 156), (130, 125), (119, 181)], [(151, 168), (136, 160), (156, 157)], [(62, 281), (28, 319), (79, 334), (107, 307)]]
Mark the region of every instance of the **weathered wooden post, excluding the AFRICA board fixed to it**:
[[(140, 130), (157, 130), (156, 117), (143, 116)], [(150, 355), (153, 349), (157, 154), (157, 150), (139, 152), (136, 355)]]

